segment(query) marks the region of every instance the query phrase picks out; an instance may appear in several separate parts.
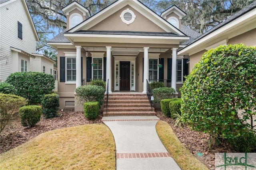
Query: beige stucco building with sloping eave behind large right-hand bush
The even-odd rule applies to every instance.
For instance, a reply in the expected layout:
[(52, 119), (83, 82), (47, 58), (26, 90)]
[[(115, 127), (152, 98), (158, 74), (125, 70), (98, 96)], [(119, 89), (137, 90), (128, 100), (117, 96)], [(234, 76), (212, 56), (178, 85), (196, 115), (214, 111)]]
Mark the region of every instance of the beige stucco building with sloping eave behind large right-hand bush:
[(191, 72), (207, 50), (237, 43), (256, 46), (256, 1), (188, 43), (186, 47), (178, 50), (178, 55), (189, 56)]

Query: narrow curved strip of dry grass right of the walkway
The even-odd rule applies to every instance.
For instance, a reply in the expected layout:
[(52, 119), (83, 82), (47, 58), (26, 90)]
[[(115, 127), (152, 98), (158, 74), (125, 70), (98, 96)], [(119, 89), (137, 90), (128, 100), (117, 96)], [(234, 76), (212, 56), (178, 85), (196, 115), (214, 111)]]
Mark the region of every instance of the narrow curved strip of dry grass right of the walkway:
[(158, 121), (156, 131), (165, 148), (182, 170), (208, 170), (208, 168), (196, 159), (180, 142), (168, 123)]

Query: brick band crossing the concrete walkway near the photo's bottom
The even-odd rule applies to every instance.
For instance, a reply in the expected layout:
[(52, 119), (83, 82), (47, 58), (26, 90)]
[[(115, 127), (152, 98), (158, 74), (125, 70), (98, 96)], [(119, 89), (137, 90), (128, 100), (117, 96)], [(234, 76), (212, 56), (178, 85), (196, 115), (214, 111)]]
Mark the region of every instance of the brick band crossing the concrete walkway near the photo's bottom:
[(168, 152), (157, 153), (116, 153), (116, 159), (172, 157)]

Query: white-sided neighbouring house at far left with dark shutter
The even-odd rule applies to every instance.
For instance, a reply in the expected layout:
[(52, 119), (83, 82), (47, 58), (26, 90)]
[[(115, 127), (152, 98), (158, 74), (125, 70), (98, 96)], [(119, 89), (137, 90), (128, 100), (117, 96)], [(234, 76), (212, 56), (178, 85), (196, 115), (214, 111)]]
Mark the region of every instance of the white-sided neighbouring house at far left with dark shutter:
[(55, 61), (36, 54), (38, 41), (25, 0), (0, 0), (0, 81), (19, 71), (54, 75)]

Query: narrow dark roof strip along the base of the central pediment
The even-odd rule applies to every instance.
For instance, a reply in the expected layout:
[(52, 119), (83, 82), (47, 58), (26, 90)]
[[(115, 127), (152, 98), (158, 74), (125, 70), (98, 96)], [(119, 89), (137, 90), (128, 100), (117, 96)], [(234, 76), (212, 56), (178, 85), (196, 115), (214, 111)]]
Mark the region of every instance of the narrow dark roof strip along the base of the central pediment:
[[(66, 32), (69, 34), (69, 32)], [(65, 34), (65, 33), (64, 33)], [(105, 35), (127, 35), (127, 36), (164, 36), (164, 37), (186, 37), (171, 32), (131, 32), (131, 31), (78, 31), (72, 34), (105, 34)]]

